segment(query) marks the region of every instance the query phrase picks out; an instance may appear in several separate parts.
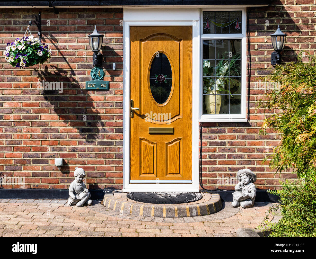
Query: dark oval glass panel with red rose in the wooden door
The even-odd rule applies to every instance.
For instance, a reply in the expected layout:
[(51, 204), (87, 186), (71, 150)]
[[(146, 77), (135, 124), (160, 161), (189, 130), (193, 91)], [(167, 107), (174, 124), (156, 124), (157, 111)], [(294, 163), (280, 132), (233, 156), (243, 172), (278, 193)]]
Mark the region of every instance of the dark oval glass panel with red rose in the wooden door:
[(151, 95), (159, 103), (165, 103), (171, 93), (172, 71), (169, 59), (164, 53), (155, 54), (149, 71)]

